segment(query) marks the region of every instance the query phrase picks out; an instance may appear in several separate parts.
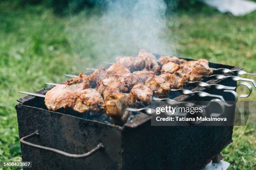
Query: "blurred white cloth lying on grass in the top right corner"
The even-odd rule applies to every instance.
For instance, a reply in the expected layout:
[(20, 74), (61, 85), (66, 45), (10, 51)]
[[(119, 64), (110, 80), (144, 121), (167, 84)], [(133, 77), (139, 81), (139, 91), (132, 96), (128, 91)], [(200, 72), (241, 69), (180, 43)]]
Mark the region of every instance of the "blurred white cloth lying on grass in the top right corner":
[(256, 10), (256, 2), (249, 0), (202, 0), (207, 5), (215, 7), (221, 13), (231, 13), (234, 16), (246, 15)]

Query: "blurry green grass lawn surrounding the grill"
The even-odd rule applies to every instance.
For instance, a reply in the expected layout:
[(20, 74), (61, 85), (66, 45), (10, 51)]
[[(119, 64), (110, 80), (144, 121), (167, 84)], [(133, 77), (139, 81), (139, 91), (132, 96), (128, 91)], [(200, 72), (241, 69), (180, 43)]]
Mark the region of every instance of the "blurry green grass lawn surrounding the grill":
[[(203, 7), (198, 12), (181, 10), (177, 16), (175, 22), (168, 17), (167, 26), (176, 35), (169, 42), (180, 56), (256, 71), (255, 12), (235, 18)], [(17, 90), (40, 90), (46, 87), (44, 82), (65, 80), (65, 73), (99, 66), (102, 56), (92, 52), (90, 18), (92, 13), (60, 18), (41, 5), (0, 2), (0, 161), (21, 160), (14, 106), (23, 95)], [(256, 100), (255, 90), (247, 100)], [(235, 127), (233, 143), (223, 155), (232, 164), (230, 169), (256, 169), (255, 126)]]

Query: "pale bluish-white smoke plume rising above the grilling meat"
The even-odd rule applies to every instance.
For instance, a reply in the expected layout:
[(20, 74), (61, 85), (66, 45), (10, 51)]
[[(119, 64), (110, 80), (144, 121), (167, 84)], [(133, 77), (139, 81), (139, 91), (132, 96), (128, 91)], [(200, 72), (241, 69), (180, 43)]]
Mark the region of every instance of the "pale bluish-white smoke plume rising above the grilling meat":
[[(85, 58), (114, 61), (117, 55), (149, 52), (172, 54), (166, 39), (166, 4), (164, 0), (109, 0), (102, 15), (72, 17), (69, 31), (74, 49)], [(85, 22), (83, 22), (85, 20)], [(166, 35), (168, 34), (168, 35)]]

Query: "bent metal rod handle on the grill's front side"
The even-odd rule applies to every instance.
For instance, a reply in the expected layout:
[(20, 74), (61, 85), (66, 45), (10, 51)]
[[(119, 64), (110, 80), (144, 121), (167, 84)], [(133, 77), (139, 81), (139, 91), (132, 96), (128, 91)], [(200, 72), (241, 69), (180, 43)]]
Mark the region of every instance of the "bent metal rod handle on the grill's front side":
[(67, 156), (69, 158), (86, 158), (86, 157), (89, 157), (90, 155), (96, 153), (98, 150), (101, 150), (101, 149), (104, 148), (104, 145), (102, 143), (99, 143), (95, 148), (93, 148), (92, 150), (90, 150), (87, 153), (71, 154), (71, 153), (66, 153), (64, 151), (57, 150), (57, 149), (54, 149), (54, 148), (49, 148), (49, 147), (45, 147), (45, 146), (41, 146), (41, 145), (36, 145), (36, 144), (29, 143), (29, 142), (25, 141), (25, 139), (33, 138), (33, 137), (39, 136), (39, 135), (40, 135), (39, 134), (39, 130), (36, 130), (34, 133), (31, 133), (30, 135), (27, 135), (27, 136), (24, 136), (24, 137), (20, 138), (20, 142), (25, 144), (25, 145), (32, 146), (34, 148), (39, 148), (39, 149), (43, 149), (43, 150), (49, 150), (51, 152)]

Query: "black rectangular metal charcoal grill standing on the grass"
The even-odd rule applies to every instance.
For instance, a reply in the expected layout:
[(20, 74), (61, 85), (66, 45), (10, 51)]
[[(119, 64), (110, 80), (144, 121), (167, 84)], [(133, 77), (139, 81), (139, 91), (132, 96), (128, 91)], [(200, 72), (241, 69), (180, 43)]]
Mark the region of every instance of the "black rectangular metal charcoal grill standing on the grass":
[[(209, 66), (242, 70), (240, 67), (211, 62)], [(236, 81), (228, 79), (208, 78), (204, 81), (208, 84), (237, 86)], [(37, 93), (44, 95), (49, 89)], [(223, 95), (227, 101), (235, 100), (231, 93), (223, 93), (223, 90), (212, 87), (189, 90)], [(176, 101), (211, 99), (179, 93), (172, 96)], [(151, 126), (151, 116), (144, 113), (138, 113), (132, 121), (117, 126), (99, 119), (89, 120), (87, 115), (69, 109), (49, 111), (40, 97), (28, 95), (18, 99), (18, 102), (16, 110), (22, 159), (32, 161), (32, 169), (195, 170), (205, 167), (232, 142), (233, 126)], [(234, 115), (235, 105), (230, 110)], [(57, 151), (31, 147), (30, 143)], [(65, 153), (61, 155), (59, 151)]]

